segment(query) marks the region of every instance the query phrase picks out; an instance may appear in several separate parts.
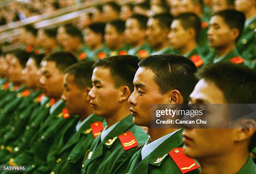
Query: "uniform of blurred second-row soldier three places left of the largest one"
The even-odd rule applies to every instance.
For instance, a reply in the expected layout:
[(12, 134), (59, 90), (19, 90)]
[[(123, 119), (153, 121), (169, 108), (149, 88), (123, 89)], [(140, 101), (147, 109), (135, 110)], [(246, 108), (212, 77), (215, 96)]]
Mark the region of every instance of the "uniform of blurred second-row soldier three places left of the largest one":
[(149, 46), (148, 42), (138, 47), (130, 48), (128, 50), (128, 55), (136, 55), (141, 59), (144, 59), (150, 55), (152, 48)]

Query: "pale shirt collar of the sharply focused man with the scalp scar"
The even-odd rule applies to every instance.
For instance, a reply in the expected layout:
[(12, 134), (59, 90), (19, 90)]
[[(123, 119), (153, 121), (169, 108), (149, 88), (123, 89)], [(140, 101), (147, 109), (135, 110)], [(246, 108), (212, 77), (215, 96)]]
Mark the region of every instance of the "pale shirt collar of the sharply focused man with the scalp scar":
[(144, 158), (146, 158), (149, 154), (151, 154), (151, 152), (153, 152), (157, 147), (159, 147), (159, 145), (161, 145), (166, 139), (171, 137), (173, 134), (175, 134), (179, 130), (174, 131), (174, 132), (172, 132), (170, 134), (167, 134), (167, 135), (165, 135), (165, 136), (163, 136), (163, 137), (161, 137), (159, 139), (156, 139), (154, 142), (150, 142), (150, 138), (148, 138), (148, 140), (144, 144), (143, 148), (141, 149), (142, 160)]

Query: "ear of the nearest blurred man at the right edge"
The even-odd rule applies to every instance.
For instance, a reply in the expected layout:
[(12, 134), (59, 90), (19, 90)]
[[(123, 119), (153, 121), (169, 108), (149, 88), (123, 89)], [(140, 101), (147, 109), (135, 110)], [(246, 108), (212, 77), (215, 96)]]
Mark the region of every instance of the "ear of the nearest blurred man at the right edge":
[(238, 127), (236, 130), (235, 142), (245, 142), (250, 141), (253, 134), (256, 133), (256, 121), (253, 119), (243, 119), (238, 122)]

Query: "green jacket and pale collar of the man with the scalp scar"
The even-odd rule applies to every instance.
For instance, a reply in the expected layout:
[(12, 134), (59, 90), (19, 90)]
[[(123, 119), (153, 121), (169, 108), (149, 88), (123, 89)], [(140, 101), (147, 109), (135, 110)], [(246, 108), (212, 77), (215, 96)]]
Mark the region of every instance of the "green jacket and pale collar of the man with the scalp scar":
[[(149, 144), (148, 142), (150, 142), (150, 139), (144, 144), (143, 148), (140, 147), (140, 149), (133, 154), (133, 157), (128, 164), (127, 174), (182, 174), (183, 171), (193, 174), (200, 173), (198, 166), (193, 159), (187, 161), (186, 166), (183, 166), (190, 167), (189, 169), (184, 169), (183, 167), (183, 169), (179, 169), (177, 163), (179, 163), (180, 160), (185, 161), (186, 159), (179, 157), (179, 160), (174, 161), (171, 157), (172, 149), (183, 146), (182, 129), (161, 137), (161, 139), (157, 139)], [(151, 147), (146, 149), (146, 146), (148, 145)], [(154, 150), (150, 152), (150, 149)], [(177, 152), (177, 154), (181, 153), (179, 150), (174, 151), (174, 154), (175, 152)]]

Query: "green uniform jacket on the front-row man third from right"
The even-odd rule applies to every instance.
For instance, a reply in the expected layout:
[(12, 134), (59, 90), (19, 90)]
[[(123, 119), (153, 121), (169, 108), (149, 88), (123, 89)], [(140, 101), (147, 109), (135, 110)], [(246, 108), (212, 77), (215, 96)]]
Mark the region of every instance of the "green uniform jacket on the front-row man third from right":
[[(109, 129), (109, 130), (108, 130)], [(132, 154), (139, 144), (148, 138), (147, 134), (133, 124), (131, 115), (108, 128), (105, 137), (97, 137), (91, 146), (92, 151), (86, 155), (82, 174), (123, 174)], [(109, 132), (110, 131), (110, 132)], [(134, 137), (135, 136), (135, 137)], [(102, 139), (102, 138), (103, 139)]]

